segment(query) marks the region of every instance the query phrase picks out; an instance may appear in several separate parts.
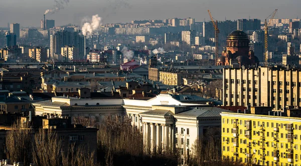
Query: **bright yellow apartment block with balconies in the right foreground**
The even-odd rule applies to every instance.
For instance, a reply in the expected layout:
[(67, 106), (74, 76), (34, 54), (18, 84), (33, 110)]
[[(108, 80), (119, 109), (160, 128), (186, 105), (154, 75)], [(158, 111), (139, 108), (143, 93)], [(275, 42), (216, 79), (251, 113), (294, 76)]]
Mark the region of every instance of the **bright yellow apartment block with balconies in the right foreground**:
[(269, 110), (258, 106), (242, 113), (221, 113), (223, 159), (255, 165), (301, 164), (300, 109)]

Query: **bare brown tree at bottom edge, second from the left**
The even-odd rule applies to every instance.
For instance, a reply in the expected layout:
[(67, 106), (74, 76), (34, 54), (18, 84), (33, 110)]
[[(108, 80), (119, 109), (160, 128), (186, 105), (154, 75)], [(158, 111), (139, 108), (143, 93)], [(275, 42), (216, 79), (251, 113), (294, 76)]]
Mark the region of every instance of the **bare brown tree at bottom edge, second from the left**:
[(37, 166), (55, 166), (60, 164), (61, 143), (52, 129), (39, 128), (35, 134), (33, 160)]

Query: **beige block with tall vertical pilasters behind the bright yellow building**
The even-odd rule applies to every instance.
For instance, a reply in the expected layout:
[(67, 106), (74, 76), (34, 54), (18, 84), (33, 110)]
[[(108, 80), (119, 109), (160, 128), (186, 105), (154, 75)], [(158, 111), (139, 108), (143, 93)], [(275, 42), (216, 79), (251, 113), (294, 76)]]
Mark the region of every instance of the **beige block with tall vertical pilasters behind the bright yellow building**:
[(223, 105), (300, 106), (301, 71), (289, 67), (223, 69)]

